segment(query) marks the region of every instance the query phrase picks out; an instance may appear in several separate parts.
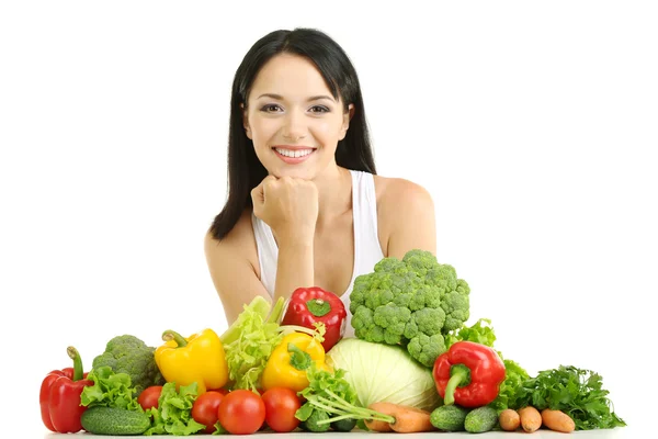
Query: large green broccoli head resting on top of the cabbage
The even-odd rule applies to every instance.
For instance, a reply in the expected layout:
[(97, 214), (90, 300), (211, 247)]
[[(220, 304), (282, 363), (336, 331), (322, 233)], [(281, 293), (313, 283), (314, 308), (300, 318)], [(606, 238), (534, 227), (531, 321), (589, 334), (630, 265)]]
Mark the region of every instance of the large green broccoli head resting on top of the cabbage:
[(384, 258), (354, 280), (350, 312), (354, 335), (366, 341), (406, 346), (431, 368), (446, 350), (444, 336), (469, 316), (470, 289), (454, 267), (430, 251), (413, 249), (399, 260)]

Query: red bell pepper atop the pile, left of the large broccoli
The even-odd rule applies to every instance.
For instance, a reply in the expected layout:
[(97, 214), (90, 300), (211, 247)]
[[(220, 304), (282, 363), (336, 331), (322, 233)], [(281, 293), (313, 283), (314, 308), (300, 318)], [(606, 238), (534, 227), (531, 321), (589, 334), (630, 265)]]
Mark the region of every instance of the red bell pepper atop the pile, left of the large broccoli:
[(315, 329), (314, 323), (324, 323), (327, 331), (322, 347), (327, 352), (342, 338), (347, 322), (348, 312), (340, 297), (319, 286), (311, 286), (293, 292), (281, 324)]

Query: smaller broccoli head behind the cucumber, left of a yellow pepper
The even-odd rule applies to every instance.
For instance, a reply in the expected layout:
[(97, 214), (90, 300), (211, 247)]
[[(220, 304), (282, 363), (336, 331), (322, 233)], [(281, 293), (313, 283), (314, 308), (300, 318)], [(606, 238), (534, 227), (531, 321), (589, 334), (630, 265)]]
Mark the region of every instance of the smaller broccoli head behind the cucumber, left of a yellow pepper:
[(105, 351), (93, 359), (92, 369), (109, 365), (115, 373), (127, 373), (138, 396), (146, 387), (167, 382), (156, 364), (155, 351), (156, 348), (135, 336), (116, 336), (107, 341)]

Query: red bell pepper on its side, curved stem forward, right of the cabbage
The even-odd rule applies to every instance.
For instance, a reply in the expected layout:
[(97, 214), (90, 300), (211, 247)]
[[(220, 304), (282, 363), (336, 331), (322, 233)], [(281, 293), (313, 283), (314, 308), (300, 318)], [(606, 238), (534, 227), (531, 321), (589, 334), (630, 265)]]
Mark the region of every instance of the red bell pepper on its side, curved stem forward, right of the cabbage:
[(481, 407), (498, 396), (504, 363), (488, 346), (457, 341), (436, 358), (432, 373), (445, 405)]

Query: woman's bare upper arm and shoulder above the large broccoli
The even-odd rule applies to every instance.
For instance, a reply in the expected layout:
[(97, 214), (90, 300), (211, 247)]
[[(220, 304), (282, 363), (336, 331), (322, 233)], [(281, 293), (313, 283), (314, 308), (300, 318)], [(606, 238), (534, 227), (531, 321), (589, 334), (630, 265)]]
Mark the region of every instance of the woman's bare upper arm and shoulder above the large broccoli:
[(406, 180), (397, 180), (389, 191), (383, 213), (390, 225), (387, 256), (401, 259), (416, 248), (436, 255), (434, 203), (429, 192)]

